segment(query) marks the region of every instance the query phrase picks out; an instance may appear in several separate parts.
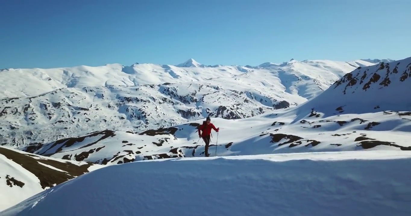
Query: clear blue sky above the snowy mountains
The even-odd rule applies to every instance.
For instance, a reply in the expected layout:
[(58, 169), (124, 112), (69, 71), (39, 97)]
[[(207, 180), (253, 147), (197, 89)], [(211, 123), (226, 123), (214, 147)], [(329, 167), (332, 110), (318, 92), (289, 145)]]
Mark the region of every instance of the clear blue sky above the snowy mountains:
[(410, 0), (0, 0), (0, 68), (411, 56)]

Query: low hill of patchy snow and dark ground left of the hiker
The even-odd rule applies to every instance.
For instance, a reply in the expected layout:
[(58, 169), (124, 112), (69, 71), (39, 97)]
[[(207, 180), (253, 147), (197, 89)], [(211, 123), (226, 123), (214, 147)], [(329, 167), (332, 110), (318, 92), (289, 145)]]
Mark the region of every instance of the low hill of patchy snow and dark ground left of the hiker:
[[(166, 133), (173, 133), (172, 130), (164, 130), (163, 133), (148, 131), (141, 134), (103, 130), (47, 144), (23, 146), (18, 149), (67, 160), (88, 161), (104, 165), (122, 164), (145, 160), (150, 157), (148, 155), (169, 151), (170, 146), (178, 145), (181, 141), (176, 141), (178, 139), (172, 134)], [(170, 151), (178, 154), (176, 149)]]

